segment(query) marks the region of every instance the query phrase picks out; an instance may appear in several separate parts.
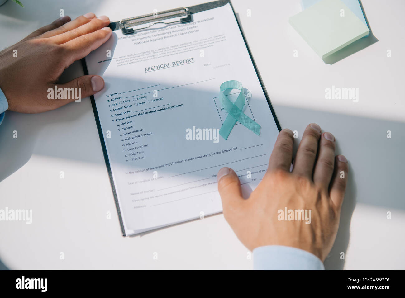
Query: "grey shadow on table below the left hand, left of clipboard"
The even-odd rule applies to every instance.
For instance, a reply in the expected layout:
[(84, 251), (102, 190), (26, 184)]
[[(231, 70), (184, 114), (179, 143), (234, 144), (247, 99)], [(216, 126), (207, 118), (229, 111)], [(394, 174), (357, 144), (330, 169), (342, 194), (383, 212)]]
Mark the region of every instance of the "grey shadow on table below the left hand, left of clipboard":
[[(69, 77), (72, 69), (77, 67), (81, 67), (80, 61), (75, 62), (65, 70), (61, 76), (61, 81), (66, 82), (65, 77)], [(71, 156), (71, 153), (75, 152), (77, 148), (75, 142), (68, 141), (64, 144), (57, 144), (53, 140), (38, 140), (38, 135), (43, 127), (55, 124), (62, 124), (66, 127), (75, 126), (77, 119), (89, 112), (80, 108), (86, 104), (90, 106), (89, 103), (85, 102), (88, 100), (89, 98), (82, 98), (81, 103), (67, 104), (58, 110), (39, 114), (6, 111), (3, 123), (0, 125), (0, 182), (26, 164), (33, 153), (38, 153), (34, 152), (36, 146), (45, 147), (45, 155), (47, 156), (62, 158), (66, 155)], [(78, 135), (81, 135), (77, 129), (62, 130), (61, 133), (66, 134), (66, 140), (75, 140)], [(99, 162), (96, 156), (88, 150), (82, 150), (78, 156), (81, 156), (83, 160), (88, 160), (88, 162)]]

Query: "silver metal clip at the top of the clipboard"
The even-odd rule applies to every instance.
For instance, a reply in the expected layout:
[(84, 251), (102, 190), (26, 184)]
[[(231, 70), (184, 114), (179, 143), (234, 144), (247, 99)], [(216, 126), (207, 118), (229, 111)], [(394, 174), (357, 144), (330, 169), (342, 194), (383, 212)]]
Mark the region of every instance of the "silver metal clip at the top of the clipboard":
[[(165, 22), (166, 19), (173, 19), (173, 21)], [(138, 17), (130, 17), (128, 19), (123, 19), (122, 21), (110, 23), (109, 27), (112, 30), (121, 29), (122, 33), (125, 35), (134, 34), (140, 30), (147, 30), (149, 27), (155, 24), (166, 24), (173, 25), (176, 23), (188, 23), (192, 21), (191, 13), (187, 8), (177, 8), (168, 11), (160, 11), (158, 13), (150, 13), (148, 15), (140, 15)], [(141, 28), (135, 28), (139, 25), (147, 24), (147, 26)]]

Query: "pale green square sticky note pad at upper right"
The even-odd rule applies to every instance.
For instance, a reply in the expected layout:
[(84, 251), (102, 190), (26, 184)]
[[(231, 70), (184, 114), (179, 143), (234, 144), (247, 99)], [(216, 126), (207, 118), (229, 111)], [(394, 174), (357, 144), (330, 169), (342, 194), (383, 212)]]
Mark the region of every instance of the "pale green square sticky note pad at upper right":
[(342, 0), (321, 0), (289, 22), (322, 59), (370, 32)]

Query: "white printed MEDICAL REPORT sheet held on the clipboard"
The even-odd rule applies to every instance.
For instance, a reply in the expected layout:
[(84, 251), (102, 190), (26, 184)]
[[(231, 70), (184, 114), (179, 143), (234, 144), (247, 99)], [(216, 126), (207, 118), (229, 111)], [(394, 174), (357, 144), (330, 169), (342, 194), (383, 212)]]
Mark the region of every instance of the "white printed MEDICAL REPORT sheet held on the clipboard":
[[(279, 132), (230, 4), (192, 17), (132, 35), (113, 31), (85, 58), (88, 73), (105, 81), (95, 115), (126, 236), (222, 212), (216, 175), (225, 166), (249, 196)], [(260, 136), (239, 122), (227, 140), (217, 133), (228, 80), (242, 83), (243, 113)]]

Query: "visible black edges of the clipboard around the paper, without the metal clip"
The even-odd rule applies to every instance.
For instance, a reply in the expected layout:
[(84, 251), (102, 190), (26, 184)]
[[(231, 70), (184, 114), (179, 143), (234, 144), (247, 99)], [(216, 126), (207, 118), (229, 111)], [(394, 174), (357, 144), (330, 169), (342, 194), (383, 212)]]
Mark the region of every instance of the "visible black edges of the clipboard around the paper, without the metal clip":
[[(234, 17), (235, 17), (235, 19), (236, 19), (236, 23), (238, 24), (239, 31), (241, 32), (241, 35), (242, 35), (242, 38), (243, 38), (243, 42), (245, 43), (247, 52), (249, 53), (250, 60), (252, 61), (254, 70), (255, 70), (256, 75), (257, 75), (257, 77), (258, 77), (258, 79), (259, 79), (260, 86), (262, 87), (262, 90), (263, 90), (263, 93), (264, 93), (264, 97), (266, 97), (267, 104), (269, 104), (269, 108), (270, 108), (270, 111), (271, 111), (271, 115), (273, 116), (273, 119), (274, 119), (274, 121), (275, 121), (275, 123), (276, 123), (277, 129), (278, 129), (278, 131), (280, 132), (280, 131), (281, 131), (281, 126), (280, 126), (280, 123), (279, 123), (279, 121), (278, 121), (278, 119), (277, 119), (277, 115), (276, 115), (276, 113), (275, 113), (275, 111), (274, 111), (274, 109), (273, 109), (273, 105), (271, 104), (271, 101), (270, 101), (270, 98), (269, 98), (269, 94), (267, 94), (266, 87), (264, 87), (262, 77), (260, 76), (260, 73), (259, 73), (259, 71), (258, 71), (258, 68), (257, 68), (257, 66), (256, 66), (256, 63), (255, 63), (255, 61), (254, 61), (254, 59), (253, 59), (252, 52), (250, 51), (249, 45), (247, 44), (247, 41), (246, 41), (246, 38), (245, 38), (245, 34), (243, 34), (243, 31), (242, 31), (242, 28), (241, 28), (241, 24), (239, 23), (239, 20), (238, 20), (238, 18), (237, 18), (237, 15), (236, 15), (236, 13), (235, 13), (235, 10), (233, 9), (233, 6), (232, 6), (232, 3), (230, 2), (230, 0), (218, 0), (218, 1), (208, 2), (208, 3), (205, 3), (205, 4), (198, 4), (198, 5), (194, 5), (194, 6), (188, 7), (188, 9), (190, 9), (190, 12), (191, 12), (191, 13), (198, 13), (198, 12), (200, 12), (200, 11), (207, 11), (207, 10), (210, 10), (210, 9), (214, 9), (214, 8), (217, 8), (217, 7), (221, 7), (221, 6), (224, 6), (224, 5), (228, 4), (228, 3), (230, 4), (230, 7), (232, 8), (232, 12), (233, 12), (233, 15), (234, 15)], [(119, 23), (119, 22), (115, 22), (115, 23)], [(111, 28), (111, 26), (113, 26), (112, 24), (115, 24), (115, 23), (110, 23), (110, 25), (109, 25), (110, 28)], [(111, 29), (113, 29), (113, 28), (111, 28)], [(116, 30), (116, 29), (114, 28), (113, 30)], [(84, 74), (85, 74), (85, 75), (89, 75), (89, 72), (88, 72), (88, 70), (87, 70), (87, 65), (86, 65), (85, 58), (81, 59), (81, 64), (82, 64), (82, 66), (83, 66)], [(114, 196), (114, 201), (115, 201), (115, 207), (116, 207), (116, 209), (117, 209), (117, 214), (118, 214), (118, 218), (119, 218), (119, 224), (120, 224), (120, 226), (121, 226), (122, 236), (132, 236), (132, 235), (126, 235), (126, 233), (125, 233), (124, 222), (123, 222), (123, 220), (122, 220), (121, 210), (120, 210), (120, 208), (119, 208), (119, 202), (118, 202), (117, 192), (116, 192), (116, 190), (115, 190), (115, 184), (114, 184), (113, 174), (112, 174), (112, 172), (111, 172), (111, 165), (110, 165), (110, 161), (109, 161), (109, 159), (108, 159), (107, 147), (106, 147), (106, 145), (105, 145), (105, 140), (104, 140), (104, 134), (103, 134), (103, 132), (102, 132), (102, 130), (101, 130), (100, 118), (98, 117), (98, 112), (97, 112), (97, 107), (96, 107), (96, 101), (95, 101), (93, 95), (90, 96), (90, 100), (91, 100), (91, 102), (92, 102), (92, 108), (93, 108), (93, 112), (94, 112), (94, 119), (96, 120), (96, 125), (97, 125), (97, 130), (98, 130), (98, 136), (100, 137), (100, 143), (101, 143), (101, 147), (102, 147), (102, 151), (103, 151), (103, 155), (104, 155), (104, 161), (105, 161), (105, 164), (106, 164), (106, 166), (107, 166), (107, 172), (108, 172), (108, 176), (109, 176), (109, 179), (110, 179), (111, 189), (112, 189), (112, 191), (113, 191), (113, 196)], [(151, 232), (151, 231), (153, 231), (153, 230), (150, 230), (149, 232)]]

